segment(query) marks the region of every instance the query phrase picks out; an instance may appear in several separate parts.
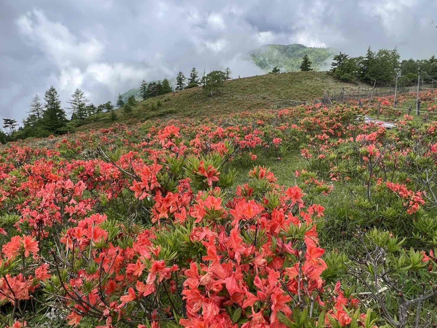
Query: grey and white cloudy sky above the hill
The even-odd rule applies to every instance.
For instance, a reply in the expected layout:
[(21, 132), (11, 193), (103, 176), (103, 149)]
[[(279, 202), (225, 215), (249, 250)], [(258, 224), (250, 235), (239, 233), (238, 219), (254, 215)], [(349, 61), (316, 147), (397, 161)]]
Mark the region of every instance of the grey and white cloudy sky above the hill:
[(437, 55), (437, 0), (1, 0), (0, 119), (21, 122), (50, 85), (94, 104), (191, 67), (262, 73), (267, 43), (334, 47), (351, 56), (398, 46)]

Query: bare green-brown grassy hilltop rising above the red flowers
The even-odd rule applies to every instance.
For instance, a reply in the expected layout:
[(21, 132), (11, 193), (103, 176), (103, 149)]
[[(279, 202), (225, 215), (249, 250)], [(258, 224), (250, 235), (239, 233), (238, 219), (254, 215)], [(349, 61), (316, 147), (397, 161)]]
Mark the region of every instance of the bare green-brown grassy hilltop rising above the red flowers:
[[(117, 121), (132, 124), (147, 119), (208, 117), (262, 108), (286, 108), (292, 101), (314, 101), (323, 90), (352, 87), (340, 83), (326, 72), (290, 72), (266, 74), (229, 80), (221, 90), (210, 96), (201, 87), (173, 92), (141, 101), (132, 113), (117, 109)], [(80, 130), (111, 125), (110, 115), (103, 114), (98, 122), (81, 126)]]

